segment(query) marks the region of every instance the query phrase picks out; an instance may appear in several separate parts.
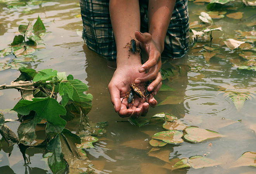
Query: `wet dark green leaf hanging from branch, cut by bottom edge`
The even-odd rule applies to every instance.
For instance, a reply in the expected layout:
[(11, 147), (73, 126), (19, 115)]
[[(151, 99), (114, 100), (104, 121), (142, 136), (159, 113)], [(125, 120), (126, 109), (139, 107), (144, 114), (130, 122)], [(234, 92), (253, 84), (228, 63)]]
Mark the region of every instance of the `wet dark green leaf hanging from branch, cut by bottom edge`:
[(47, 144), (47, 149), (52, 150), (52, 156), (48, 157), (48, 165), (54, 174), (60, 174), (66, 169), (67, 163), (63, 159), (61, 140), (59, 135)]

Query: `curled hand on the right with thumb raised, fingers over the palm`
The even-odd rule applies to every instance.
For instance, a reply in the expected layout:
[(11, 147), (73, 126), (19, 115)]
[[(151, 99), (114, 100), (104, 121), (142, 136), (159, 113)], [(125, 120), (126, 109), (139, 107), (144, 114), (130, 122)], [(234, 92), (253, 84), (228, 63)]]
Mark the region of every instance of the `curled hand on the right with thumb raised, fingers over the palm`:
[(135, 84), (140, 84), (152, 80), (152, 83), (147, 88), (148, 91), (158, 92), (162, 85), (162, 76), (160, 69), (162, 66), (161, 53), (162, 48), (160, 44), (156, 43), (151, 34), (139, 31), (135, 32), (135, 38), (140, 42), (140, 48), (149, 57), (148, 60), (138, 69), (140, 73), (144, 75), (135, 79)]

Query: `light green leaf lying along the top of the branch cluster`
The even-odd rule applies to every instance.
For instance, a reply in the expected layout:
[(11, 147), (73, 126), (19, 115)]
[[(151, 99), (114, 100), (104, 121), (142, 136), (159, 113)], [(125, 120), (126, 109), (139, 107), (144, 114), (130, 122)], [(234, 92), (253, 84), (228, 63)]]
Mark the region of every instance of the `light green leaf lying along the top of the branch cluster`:
[(40, 80), (42, 80), (43, 82), (46, 82), (48, 80), (52, 80), (52, 78), (56, 76), (57, 76), (57, 70), (52, 71), (52, 69), (44, 69), (39, 71), (39, 73), (35, 75), (35, 77), (33, 78), (33, 82), (38, 82)]

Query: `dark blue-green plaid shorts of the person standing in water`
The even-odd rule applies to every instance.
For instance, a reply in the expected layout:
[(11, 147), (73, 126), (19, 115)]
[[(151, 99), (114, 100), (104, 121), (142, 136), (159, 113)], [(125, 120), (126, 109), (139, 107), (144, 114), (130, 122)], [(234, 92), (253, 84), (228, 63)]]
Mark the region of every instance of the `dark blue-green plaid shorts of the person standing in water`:
[[(89, 49), (108, 60), (116, 59), (116, 42), (109, 15), (109, 0), (79, 0), (83, 20), (83, 39)], [(140, 1), (141, 32), (148, 32), (148, 1)], [(181, 58), (189, 48), (187, 0), (176, 0), (166, 33), (163, 54)]]

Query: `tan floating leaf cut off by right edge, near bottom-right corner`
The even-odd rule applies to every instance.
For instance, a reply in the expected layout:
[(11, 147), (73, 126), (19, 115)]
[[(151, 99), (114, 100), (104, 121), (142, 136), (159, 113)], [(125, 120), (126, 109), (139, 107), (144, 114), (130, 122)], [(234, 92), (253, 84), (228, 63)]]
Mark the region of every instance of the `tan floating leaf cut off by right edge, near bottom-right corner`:
[(240, 167), (240, 166), (253, 166), (256, 167), (256, 152), (245, 152), (242, 156), (234, 162), (234, 164), (230, 167)]

